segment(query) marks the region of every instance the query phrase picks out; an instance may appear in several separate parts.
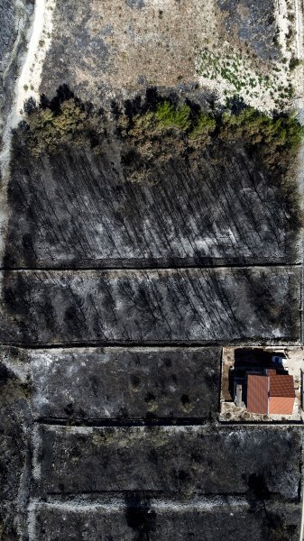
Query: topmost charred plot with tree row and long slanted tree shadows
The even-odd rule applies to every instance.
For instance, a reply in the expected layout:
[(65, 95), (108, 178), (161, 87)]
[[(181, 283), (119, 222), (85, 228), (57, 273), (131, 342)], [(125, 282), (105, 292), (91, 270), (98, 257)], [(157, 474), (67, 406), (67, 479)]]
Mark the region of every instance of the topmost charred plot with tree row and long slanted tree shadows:
[(109, 116), (62, 87), (29, 104), (5, 267), (298, 263), (298, 120), (199, 98), (150, 89)]

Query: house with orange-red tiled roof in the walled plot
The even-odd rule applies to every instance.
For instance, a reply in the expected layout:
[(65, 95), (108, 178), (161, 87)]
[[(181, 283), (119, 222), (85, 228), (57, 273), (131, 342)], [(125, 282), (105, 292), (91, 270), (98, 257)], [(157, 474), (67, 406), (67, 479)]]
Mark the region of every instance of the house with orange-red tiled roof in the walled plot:
[(266, 415), (292, 415), (295, 400), (293, 377), (276, 370), (247, 374), (247, 410)]

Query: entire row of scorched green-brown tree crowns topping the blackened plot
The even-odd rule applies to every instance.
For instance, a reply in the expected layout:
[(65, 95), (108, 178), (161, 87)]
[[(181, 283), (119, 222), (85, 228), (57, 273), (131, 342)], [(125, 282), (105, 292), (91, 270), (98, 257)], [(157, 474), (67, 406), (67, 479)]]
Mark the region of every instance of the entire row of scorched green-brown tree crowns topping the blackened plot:
[[(284, 96), (288, 90), (281, 88)], [(117, 135), (125, 146), (125, 162), (142, 163), (143, 172), (153, 161), (174, 156), (193, 159), (208, 144), (218, 141), (240, 143), (250, 148), (270, 168), (286, 167), (290, 155), (299, 149), (304, 128), (294, 115), (266, 115), (244, 102), (227, 102), (221, 111), (204, 111), (195, 104), (175, 104), (169, 99), (142, 106), (134, 113), (118, 114)], [(23, 133), (34, 154), (57, 151), (66, 144), (88, 140), (102, 151), (105, 119), (75, 97), (56, 107), (33, 107), (23, 123)], [(94, 143), (93, 143), (94, 142)]]

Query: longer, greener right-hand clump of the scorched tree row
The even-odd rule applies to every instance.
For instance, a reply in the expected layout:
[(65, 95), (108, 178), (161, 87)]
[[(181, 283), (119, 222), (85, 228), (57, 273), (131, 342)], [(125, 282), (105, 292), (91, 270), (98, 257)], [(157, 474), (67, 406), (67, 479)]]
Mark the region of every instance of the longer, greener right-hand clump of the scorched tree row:
[(164, 101), (154, 111), (121, 115), (118, 129), (145, 165), (177, 155), (197, 159), (208, 145), (221, 142), (246, 146), (270, 170), (286, 169), (304, 136), (295, 115), (266, 115), (244, 103), (210, 112)]

